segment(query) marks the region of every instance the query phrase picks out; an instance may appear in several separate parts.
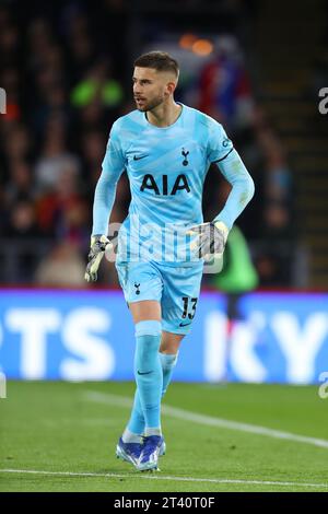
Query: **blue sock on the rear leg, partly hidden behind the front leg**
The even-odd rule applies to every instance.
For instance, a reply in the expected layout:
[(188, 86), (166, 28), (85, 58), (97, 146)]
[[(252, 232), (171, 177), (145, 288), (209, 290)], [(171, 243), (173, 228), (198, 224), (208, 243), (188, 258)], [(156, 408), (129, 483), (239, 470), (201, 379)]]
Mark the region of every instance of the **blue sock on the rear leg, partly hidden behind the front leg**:
[[(167, 353), (160, 353), (160, 361), (162, 365), (163, 372), (163, 387), (162, 387), (162, 397), (165, 395), (168, 384), (172, 378), (173, 370), (176, 365), (178, 353), (176, 354), (167, 354)], [(134, 434), (142, 434), (144, 432), (144, 417), (140, 404), (140, 397), (138, 393), (138, 388), (136, 389), (134, 394), (134, 402), (131, 412), (131, 418), (128, 423), (128, 429), (130, 432)]]

